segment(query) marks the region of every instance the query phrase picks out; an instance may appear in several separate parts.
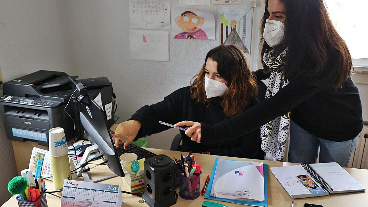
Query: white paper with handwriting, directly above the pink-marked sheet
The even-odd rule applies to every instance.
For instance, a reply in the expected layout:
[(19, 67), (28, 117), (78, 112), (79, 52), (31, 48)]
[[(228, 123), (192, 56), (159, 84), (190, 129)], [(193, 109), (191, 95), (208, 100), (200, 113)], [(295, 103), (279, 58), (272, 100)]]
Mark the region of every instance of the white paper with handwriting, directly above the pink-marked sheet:
[(170, 0), (129, 0), (130, 27), (170, 29)]

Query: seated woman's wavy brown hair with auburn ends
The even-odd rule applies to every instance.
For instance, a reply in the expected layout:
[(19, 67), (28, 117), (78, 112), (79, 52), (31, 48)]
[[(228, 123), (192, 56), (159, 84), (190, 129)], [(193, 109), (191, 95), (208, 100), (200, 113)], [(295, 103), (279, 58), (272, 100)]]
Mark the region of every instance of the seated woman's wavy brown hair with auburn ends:
[(225, 115), (238, 115), (247, 108), (258, 92), (257, 82), (243, 51), (233, 45), (220, 45), (207, 53), (201, 71), (192, 79), (197, 78), (197, 81), (190, 87), (192, 97), (197, 103), (209, 103), (204, 84), (208, 58), (217, 62), (217, 73), (228, 82), (228, 89), (221, 101)]

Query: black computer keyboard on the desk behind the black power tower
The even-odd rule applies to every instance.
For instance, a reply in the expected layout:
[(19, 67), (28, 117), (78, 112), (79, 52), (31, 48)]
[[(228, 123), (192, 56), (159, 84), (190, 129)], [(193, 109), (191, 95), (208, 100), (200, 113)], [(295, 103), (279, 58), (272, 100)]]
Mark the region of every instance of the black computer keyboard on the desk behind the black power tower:
[[(127, 152), (132, 152), (134, 154), (137, 154), (138, 155), (138, 160), (139, 159), (142, 159), (142, 158), (150, 158), (150, 157), (153, 157), (155, 156), (156, 154), (148, 151), (148, 150), (145, 150), (144, 148), (142, 147), (138, 147), (137, 145), (135, 144), (130, 144), (127, 149), (125, 150), (124, 149), (124, 144), (120, 144), (119, 145), (119, 148), (117, 148), (117, 151), (119, 152), (119, 157), (120, 155), (124, 154), (124, 153), (127, 153)], [(180, 179), (180, 176), (179, 176), (179, 166), (177, 164), (174, 165), (175, 166), (175, 177), (174, 177), (174, 182), (175, 182), (175, 186), (178, 186), (179, 185), (179, 179)]]

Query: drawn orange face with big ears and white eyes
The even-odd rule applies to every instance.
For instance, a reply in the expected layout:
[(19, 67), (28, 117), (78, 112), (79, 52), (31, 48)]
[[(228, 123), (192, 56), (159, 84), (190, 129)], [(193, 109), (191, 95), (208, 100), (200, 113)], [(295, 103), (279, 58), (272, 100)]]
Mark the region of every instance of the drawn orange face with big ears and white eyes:
[(183, 29), (184, 32), (194, 33), (200, 29), (198, 27), (205, 23), (205, 19), (198, 17), (191, 11), (185, 11), (175, 18), (175, 22), (181, 29)]

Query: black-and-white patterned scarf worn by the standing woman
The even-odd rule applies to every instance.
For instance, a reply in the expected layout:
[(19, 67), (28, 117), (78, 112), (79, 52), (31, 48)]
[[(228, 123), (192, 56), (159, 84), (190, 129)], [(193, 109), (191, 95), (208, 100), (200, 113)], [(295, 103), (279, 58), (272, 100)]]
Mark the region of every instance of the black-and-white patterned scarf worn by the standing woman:
[[(273, 97), (279, 90), (287, 85), (284, 78), (285, 57), (287, 48), (274, 57), (272, 54), (274, 48), (266, 50), (263, 55), (263, 61), (270, 68), (270, 81), (267, 86), (266, 99)], [(273, 161), (282, 161), (284, 158), (284, 150), (286, 140), (289, 134), (290, 112), (276, 117), (272, 121), (261, 127), (261, 149), (272, 154)]]

